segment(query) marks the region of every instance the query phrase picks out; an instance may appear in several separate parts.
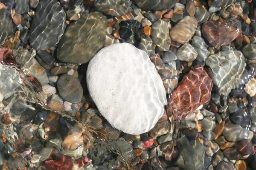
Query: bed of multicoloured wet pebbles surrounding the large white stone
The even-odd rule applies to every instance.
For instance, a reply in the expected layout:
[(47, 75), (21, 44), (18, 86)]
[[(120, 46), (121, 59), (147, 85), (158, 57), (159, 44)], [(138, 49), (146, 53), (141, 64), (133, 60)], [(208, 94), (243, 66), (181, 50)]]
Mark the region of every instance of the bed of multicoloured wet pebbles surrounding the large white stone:
[[(124, 42), (168, 101), (140, 135), (87, 88)], [(256, 0), (0, 0), (0, 77), (0, 169), (256, 170)]]

